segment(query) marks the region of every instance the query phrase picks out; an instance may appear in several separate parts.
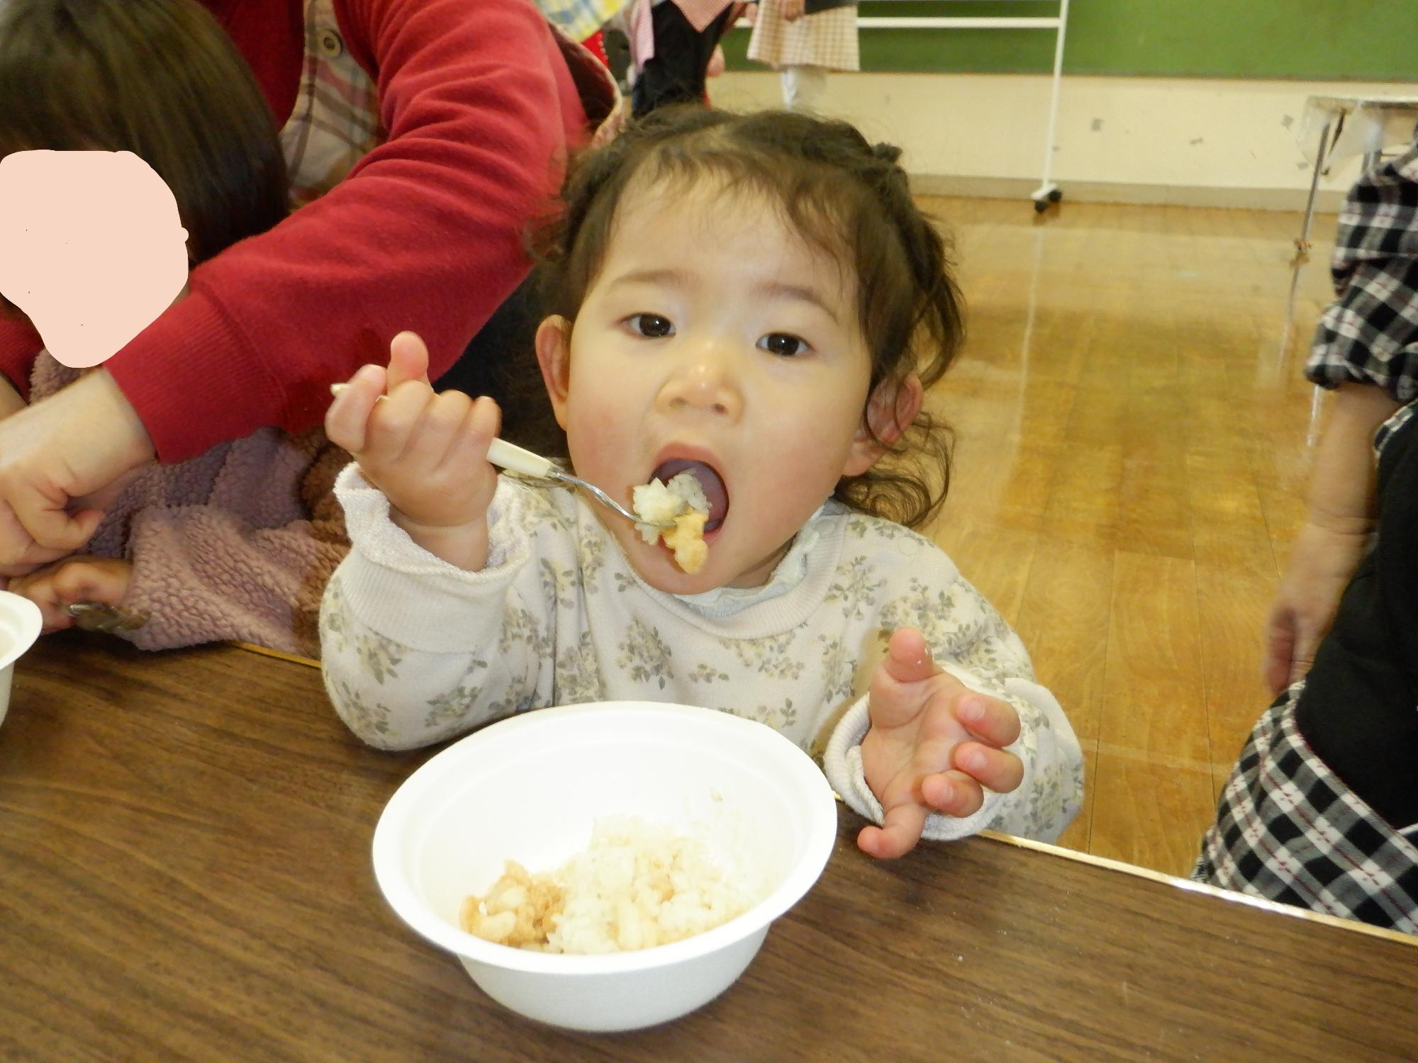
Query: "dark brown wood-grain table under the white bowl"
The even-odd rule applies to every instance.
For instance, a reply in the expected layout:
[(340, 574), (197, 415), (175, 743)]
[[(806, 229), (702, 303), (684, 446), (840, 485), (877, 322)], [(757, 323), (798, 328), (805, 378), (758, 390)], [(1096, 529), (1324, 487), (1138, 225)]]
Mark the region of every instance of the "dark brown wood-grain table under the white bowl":
[(873, 863), (848, 812), (718, 1001), (537, 1026), (374, 886), (374, 821), (427, 755), (360, 747), (301, 665), (43, 641), (0, 726), (0, 1059), (1418, 1057), (1407, 938), (1004, 839)]

